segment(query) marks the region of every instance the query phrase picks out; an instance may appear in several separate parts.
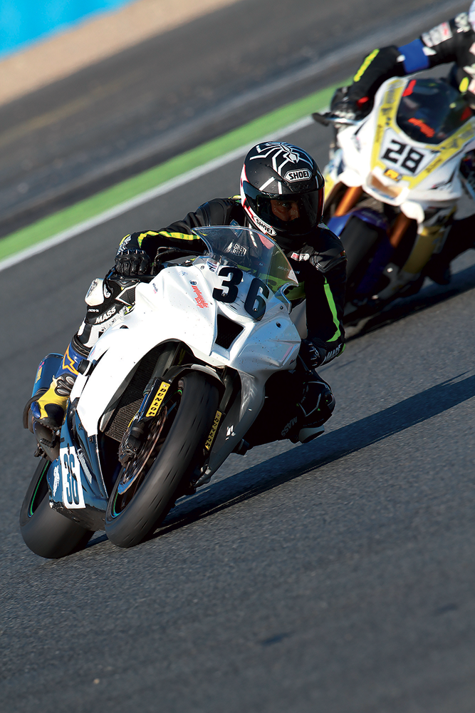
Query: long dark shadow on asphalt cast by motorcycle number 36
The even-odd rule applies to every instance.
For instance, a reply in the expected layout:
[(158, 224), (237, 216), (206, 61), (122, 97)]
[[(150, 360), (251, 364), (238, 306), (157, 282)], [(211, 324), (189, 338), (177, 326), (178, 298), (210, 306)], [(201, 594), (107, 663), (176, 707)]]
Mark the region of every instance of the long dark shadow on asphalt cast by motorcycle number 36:
[(179, 501), (167, 516), (162, 528), (151, 535), (150, 539), (277, 488), (308, 471), (338, 461), (373, 443), (384, 441), (385, 438), (410, 429), (471, 399), (475, 396), (475, 376), (465, 379), (461, 379), (461, 376), (464, 374), (442, 381), (437, 386), (425, 389), (377, 414), (343, 426), (338, 431), (332, 431), (308, 446), (293, 448), (212, 484), (207, 491), (198, 493), (192, 499)]

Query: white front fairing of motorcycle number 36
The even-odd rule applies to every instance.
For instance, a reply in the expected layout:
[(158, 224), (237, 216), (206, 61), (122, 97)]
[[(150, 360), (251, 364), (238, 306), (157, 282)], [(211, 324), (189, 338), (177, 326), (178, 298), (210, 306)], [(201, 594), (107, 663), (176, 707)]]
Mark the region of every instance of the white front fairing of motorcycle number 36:
[[(167, 267), (152, 282), (137, 286), (134, 309), (100, 337), (88, 357), (95, 368), (90, 376), (79, 375), (73, 387), (71, 400), (79, 397), (78, 415), (88, 436), (98, 433), (101, 417), (142, 356), (157, 344), (175, 340), (187, 344), (197, 360), (218, 371), (229, 366), (241, 377), (240, 412), (231, 409), (226, 415), (209, 472), (239, 443), (259, 414), (268, 377), (295, 366), (301, 339), (289, 314), (290, 304), (279, 292), (269, 292), (259, 321), (249, 315), (245, 300), (253, 277), (246, 272), (234, 302), (214, 299), (213, 290), (223, 289), (218, 272), (216, 262), (199, 258), (189, 267)], [(215, 343), (219, 314), (242, 327), (229, 349)]]

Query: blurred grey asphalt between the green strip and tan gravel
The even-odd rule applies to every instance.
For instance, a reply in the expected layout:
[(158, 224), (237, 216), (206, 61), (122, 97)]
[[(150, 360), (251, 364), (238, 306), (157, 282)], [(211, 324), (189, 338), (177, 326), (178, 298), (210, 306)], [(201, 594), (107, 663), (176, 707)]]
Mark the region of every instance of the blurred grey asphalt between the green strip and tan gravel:
[(343, 81), (375, 46), (468, 5), (240, 0), (1, 106), (0, 236)]

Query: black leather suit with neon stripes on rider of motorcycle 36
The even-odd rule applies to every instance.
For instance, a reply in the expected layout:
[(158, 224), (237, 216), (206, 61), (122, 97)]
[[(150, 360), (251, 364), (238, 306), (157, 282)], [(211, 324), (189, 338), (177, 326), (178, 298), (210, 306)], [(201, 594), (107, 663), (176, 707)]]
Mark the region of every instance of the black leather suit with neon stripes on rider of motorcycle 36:
[[(192, 233), (192, 229), (231, 223), (252, 227), (241, 207), (240, 198), (210, 200), (194, 212), (189, 212), (183, 220), (173, 222), (161, 230), (146, 230), (127, 235), (120, 243), (116, 262), (118, 258), (126, 257), (128, 251), (145, 251), (150, 261), (155, 260), (160, 248), (189, 248), (192, 252), (204, 252), (206, 246)], [(299, 280), (298, 288), (293, 289), (289, 298), (291, 302), (298, 304), (306, 297), (308, 339), (318, 348), (323, 363), (328, 363), (338, 356), (344, 347), (346, 257), (343, 245), (325, 225), (320, 225), (308, 242), (298, 248), (288, 245), (285, 252)], [(170, 259), (169, 255), (165, 259)], [(117, 319), (124, 305), (133, 303), (130, 297), (123, 297), (127, 294), (127, 289), (122, 288), (127, 288), (127, 284), (122, 282), (122, 292), (118, 299), (118, 289), (113, 283), (113, 279), (104, 282), (105, 299), (102, 304), (98, 304), (98, 299), (95, 299), (94, 304), (88, 307), (85, 321), (72, 343), (77, 352), (87, 354), (100, 334)], [(271, 377), (266, 386), (266, 405), (246, 440), (254, 446), (278, 438), (289, 438), (292, 437), (294, 425), (296, 428), (293, 430), (298, 432), (298, 426), (302, 422), (301, 411), (305, 414), (313, 413), (310, 387), (316, 384), (316, 380), (319, 380), (320, 384), (323, 382), (315, 371), (308, 371), (300, 364), (292, 373), (278, 372)], [(323, 384), (328, 386), (326, 382)], [(315, 414), (316, 421), (320, 419), (322, 423), (330, 417), (335, 404), (329, 387), (328, 394), (329, 408), (321, 399), (321, 413)], [(300, 410), (296, 408), (298, 404)]]

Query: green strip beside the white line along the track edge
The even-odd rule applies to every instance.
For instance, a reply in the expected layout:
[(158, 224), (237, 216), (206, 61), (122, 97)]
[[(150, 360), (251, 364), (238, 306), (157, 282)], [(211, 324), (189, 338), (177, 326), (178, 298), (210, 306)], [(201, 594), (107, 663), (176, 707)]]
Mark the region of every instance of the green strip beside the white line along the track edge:
[(21, 230), (7, 235), (0, 240), (0, 260), (4, 257), (9, 257), (9, 255), (14, 255), (26, 247), (31, 247), (31, 245), (35, 245), (41, 240), (46, 240), (52, 235), (57, 235), (59, 232), (67, 230), (74, 225), (78, 225), (83, 220), (100, 215), (100, 213), (119, 205), (125, 200), (135, 198), (140, 193), (144, 193), (150, 188), (155, 188), (155, 186), (176, 178), (182, 173), (197, 168), (229, 151), (285, 128), (313, 111), (318, 111), (318, 109), (328, 105), (336, 86), (341, 86), (341, 83), (271, 111), (240, 128), (219, 136), (219, 138), (175, 156), (161, 165), (150, 168), (132, 178), (127, 178), (127, 180), (100, 191), (100, 193), (96, 193), (90, 198), (85, 198), (85, 200), (81, 200), (75, 205), (63, 208), (63, 210), (59, 210), (53, 215), (41, 218), (41, 220), (21, 228)]

